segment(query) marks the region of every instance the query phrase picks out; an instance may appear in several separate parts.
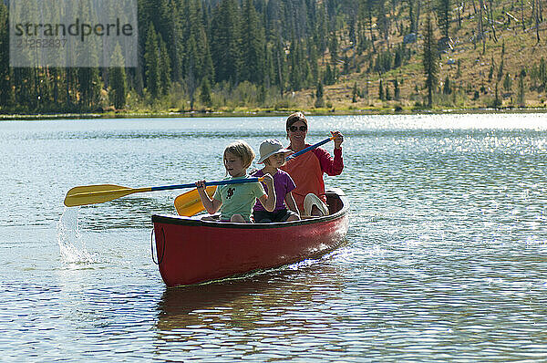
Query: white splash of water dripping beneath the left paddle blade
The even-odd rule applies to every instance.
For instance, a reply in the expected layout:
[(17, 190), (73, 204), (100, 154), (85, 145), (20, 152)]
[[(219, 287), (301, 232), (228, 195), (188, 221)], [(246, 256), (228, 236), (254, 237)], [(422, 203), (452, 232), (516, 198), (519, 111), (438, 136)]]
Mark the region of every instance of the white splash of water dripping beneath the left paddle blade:
[(65, 207), (57, 223), (57, 244), (61, 261), (66, 264), (91, 264), (94, 262), (93, 258), (88, 253), (77, 225), (78, 209)]

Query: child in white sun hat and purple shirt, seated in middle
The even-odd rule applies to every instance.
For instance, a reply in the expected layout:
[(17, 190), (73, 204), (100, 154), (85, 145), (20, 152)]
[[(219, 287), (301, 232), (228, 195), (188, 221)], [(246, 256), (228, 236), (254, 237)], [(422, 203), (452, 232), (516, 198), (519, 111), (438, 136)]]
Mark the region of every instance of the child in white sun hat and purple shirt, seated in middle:
[[(261, 177), (270, 174), (274, 177), (275, 208), (274, 212), (268, 212), (263, 205), (256, 203), (253, 208), (254, 223), (289, 222), (300, 220), (298, 207), (294, 202), (292, 191), (296, 188), (293, 179), (286, 172), (279, 169), (285, 162), (285, 157), (292, 150), (284, 149), (280, 140), (263, 140), (260, 144), (260, 159), (258, 163), (264, 163), (263, 169), (255, 171), (253, 176)], [(267, 191), (267, 186), (263, 184)]]

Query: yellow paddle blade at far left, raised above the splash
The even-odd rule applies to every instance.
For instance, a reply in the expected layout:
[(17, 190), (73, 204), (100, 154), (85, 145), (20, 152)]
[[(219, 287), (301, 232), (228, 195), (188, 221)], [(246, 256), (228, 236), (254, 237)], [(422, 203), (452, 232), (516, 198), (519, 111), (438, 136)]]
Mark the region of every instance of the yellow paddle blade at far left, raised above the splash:
[(150, 190), (151, 188), (133, 189), (114, 184), (79, 186), (67, 192), (65, 205), (67, 207), (75, 207), (77, 205), (108, 202), (134, 192), (150, 192)]

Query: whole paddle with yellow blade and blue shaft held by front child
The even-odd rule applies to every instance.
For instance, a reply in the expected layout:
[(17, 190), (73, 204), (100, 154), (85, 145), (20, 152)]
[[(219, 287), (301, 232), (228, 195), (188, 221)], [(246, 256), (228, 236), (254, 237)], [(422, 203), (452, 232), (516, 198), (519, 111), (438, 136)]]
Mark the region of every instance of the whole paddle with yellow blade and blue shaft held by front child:
[[(224, 185), (224, 184), (240, 184), (243, 182), (257, 182), (262, 181), (263, 178), (247, 178), (247, 179), (235, 179), (229, 181), (208, 181), (207, 186), (210, 185)], [(100, 184), (100, 185), (85, 185), (74, 187), (67, 192), (65, 197), (65, 205), (67, 207), (75, 207), (77, 205), (97, 204), (101, 202), (108, 202), (114, 199), (121, 198), (123, 196), (133, 194), (135, 192), (157, 192), (157, 191), (169, 191), (172, 189), (184, 189), (195, 188), (195, 183), (190, 184), (176, 184), (176, 185), (164, 185), (160, 187), (147, 187), (147, 188), (128, 188), (114, 184)]]

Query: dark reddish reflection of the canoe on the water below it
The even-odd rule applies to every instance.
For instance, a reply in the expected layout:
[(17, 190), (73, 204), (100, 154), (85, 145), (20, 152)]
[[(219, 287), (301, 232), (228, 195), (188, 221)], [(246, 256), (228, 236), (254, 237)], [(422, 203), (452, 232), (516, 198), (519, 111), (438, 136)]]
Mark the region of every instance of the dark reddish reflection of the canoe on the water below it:
[[(291, 320), (287, 313), (294, 306), (334, 298), (343, 288), (340, 276), (336, 268), (319, 262), (207, 285), (166, 287), (158, 304), (158, 333), (160, 338), (176, 339), (172, 332), (181, 331), (180, 338), (184, 339), (184, 329), (294, 325), (294, 321), (287, 321)], [(314, 324), (313, 319), (306, 322), (305, 318), (301, 320), (303, 327)]]

